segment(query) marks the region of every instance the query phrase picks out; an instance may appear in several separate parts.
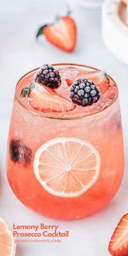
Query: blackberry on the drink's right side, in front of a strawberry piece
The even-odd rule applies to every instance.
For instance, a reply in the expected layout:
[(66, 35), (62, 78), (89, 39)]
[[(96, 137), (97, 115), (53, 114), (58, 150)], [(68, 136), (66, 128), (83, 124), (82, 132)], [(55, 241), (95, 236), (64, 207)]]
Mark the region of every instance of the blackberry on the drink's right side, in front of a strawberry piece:
[(101, 96), (100, 88), (86, 78), (75, 79), (69, 87), (69, 95), (73, 103), (83, 107), (97, 102)]

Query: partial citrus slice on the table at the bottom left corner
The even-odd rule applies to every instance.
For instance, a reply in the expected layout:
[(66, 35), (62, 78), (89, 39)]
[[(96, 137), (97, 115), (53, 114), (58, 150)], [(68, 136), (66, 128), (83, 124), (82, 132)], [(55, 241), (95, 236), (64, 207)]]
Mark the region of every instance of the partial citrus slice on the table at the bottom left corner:
[(8, 225), (0, 217), (0, 255), (15, 256), (16, 243)]

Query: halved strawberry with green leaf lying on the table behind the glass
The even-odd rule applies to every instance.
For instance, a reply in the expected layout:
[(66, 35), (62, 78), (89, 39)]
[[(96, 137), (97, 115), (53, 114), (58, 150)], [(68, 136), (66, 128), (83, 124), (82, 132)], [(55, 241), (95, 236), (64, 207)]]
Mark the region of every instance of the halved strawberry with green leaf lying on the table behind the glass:
[(42, 34), (50, 43), (66, 52), (72, 52), (76, 46), (76, 24), (68, 15), (57, 18), (54, 24), (43, 25), (36, 37)]

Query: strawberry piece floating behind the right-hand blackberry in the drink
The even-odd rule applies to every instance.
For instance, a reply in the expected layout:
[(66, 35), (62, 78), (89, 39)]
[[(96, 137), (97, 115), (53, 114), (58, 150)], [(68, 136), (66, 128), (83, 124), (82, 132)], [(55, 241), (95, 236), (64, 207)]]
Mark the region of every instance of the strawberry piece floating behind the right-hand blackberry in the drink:
[(96, 71), (88, 74), (83, 73), (82, 76), (80, 74), (77, 77), (66, 79), (67, 85), (71, 86), (73, 84), (74, 79), (81, 77), (94, 81), (95, 84), (100, 87), (101, 94), (104, 94), (108, 89), (109, 78), (105, 71)]

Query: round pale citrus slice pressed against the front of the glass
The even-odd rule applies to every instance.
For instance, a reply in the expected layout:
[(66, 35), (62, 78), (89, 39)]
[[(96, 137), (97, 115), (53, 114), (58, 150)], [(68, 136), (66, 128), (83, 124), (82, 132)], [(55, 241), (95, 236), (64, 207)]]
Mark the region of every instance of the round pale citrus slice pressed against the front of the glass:
[(35, 153), (34, 173), (50, 194), (77, 197), (97, 181), (100, 155), (95, 147), (78, 138), (55, 138)]

